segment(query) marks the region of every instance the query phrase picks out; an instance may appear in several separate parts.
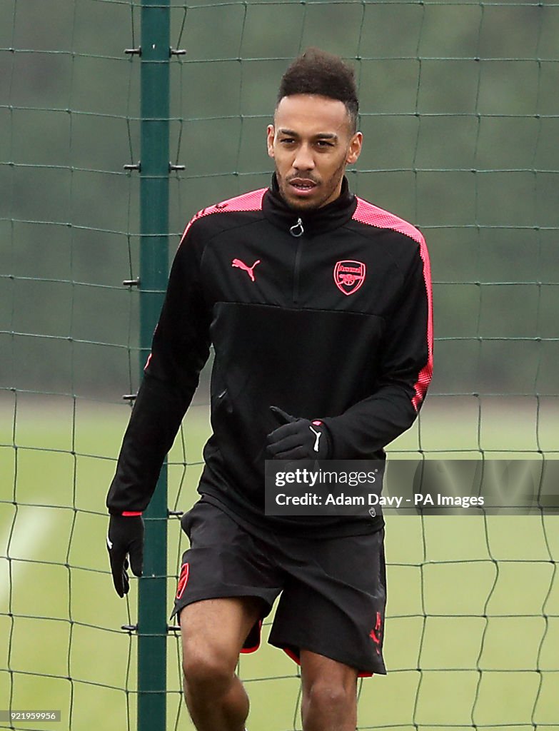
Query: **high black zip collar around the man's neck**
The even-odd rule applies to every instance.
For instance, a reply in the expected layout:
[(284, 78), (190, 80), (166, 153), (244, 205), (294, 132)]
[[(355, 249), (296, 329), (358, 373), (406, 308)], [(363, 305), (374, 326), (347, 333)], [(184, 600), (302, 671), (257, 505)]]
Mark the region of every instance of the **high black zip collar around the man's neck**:
[[(315, 208), (310, 211), (297, 211), (287, 205), (281, 197), (275, 173), (272, 176), (272, 184), (267, 189), (262, 200), (262, 211), (266, 218), (278, 228), (292, 230), (294, 235), (301, 235), (301, 227), (305, 235), (317, 235), (331, 231), (346, 224), (353, 216), (357, 208), (357, 198), (349, 190), (347, 178), (342, 181), (341, 193), (323, 208)], [(299, 221), (300, 224), (298, 223)]]

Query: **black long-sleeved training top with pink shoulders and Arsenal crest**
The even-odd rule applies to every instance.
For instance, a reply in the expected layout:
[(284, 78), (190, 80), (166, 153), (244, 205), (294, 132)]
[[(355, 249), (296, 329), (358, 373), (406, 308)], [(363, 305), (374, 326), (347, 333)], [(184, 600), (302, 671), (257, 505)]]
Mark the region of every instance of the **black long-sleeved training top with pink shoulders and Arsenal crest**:
[(107, 496), (142, 511), (215, 350), (213, 434), (199, 492), (278, 531), (374, 531), (377, 518), (264, 515), (270, 406), (321, 419), (332, 458), (384, 458), (432, 374), (430, 268), (421, 233), (351, 194), (315, 211), (270, 189), (205, 208), (180, 240), (145, 377)]

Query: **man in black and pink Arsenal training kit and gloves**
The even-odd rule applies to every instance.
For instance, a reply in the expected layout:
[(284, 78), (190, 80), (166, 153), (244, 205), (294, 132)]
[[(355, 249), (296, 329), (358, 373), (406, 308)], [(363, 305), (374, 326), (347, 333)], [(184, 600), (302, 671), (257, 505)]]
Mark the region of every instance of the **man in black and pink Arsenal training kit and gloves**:
[(309, 50), (287, 70), (267, 149), (270, 189), (186, 227), (107, 497), (115, 588), (141, 572), (142, 518), (215, 349), (201, 499), (183, 516), (175, 613), (199, 731), (242, 731), (240, 651), (281, 594), (270, 643), (301, 666), (305, 731), (356, 725), (359, 675), (385, 673), (384, 521), (264, 514), (266, 458), (384, 459), (432, 372), (422, 235), (349, 192), (351, 69)]

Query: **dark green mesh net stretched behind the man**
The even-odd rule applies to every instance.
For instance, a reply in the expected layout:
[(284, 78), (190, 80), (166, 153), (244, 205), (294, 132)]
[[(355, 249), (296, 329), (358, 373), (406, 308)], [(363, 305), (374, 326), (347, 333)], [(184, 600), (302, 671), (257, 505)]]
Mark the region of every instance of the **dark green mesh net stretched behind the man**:
[[(140, 372), (140, 0), (0, 3), (0, 728), (136, 728), (137, 582), (115, 595), (104, 496)], [(170, 257), (199, 208), (267, 186), (278, 81), (316, 45), (357, 72), (351, 189), (425, 234), (435, 376), (392, 458), (552, 461), (559, 392), (559, 5), (171, 7)], [(208, 366), (209, 368), (209, 366)], [(196, 499), (208, 368), (169, 457)], [(360, 729), (559, 728), (556, 515), (387, 518), (386, 661)], [(186, 539), (170, 520), (168, 594)], [(264, 628), (267, 637), (269, 624)], [(167, 728), (191, 729), (170, 632)], [(299, 730), (297, 667), (243, 656), (249, 728)], [(2, 715), (3, 714), (3, 715)]]

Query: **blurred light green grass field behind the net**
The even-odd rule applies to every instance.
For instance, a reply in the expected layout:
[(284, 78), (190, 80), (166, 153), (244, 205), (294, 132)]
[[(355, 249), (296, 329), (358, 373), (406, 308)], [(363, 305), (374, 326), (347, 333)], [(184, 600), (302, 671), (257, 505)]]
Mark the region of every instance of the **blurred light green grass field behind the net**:
[[(535, 448), (528, 401), (488, 406), (481, 430), (477, 409), (460, 404), (427, 404), (395, 452), (475, 450), (480, 439), (495, 453)], [(129, 411), (56, 396), (18, 395), (16, 406), (4, 392), (0, 414), (0, 709), (62, 711), (60, 724), (0, 728), (133, 731), (135, 638), (120, 627), (135, 620), (137, 584), (118, 599), (104, 548), (104, 496)], [(542, 448), (556, 449), (558, 424), (556, 406), (541, 409)], [(187, 510), (204, 406), (191, 409), (184, 433), (186, 452), (178, 439), (170, 455), (170, 507)], [(390, 516), (389, 675), (362, 682), (359, 727), (559, 731), (558, 529), (556, 516)], [(174, 520), (169, 605), (184, 548)], [(169, 660), (167, 728), (191, 730), (174, 637)], [(243, 656), (240, 674), (250, 731), (300, 728), (297, 669), (281, 651), (264, 643)]]

